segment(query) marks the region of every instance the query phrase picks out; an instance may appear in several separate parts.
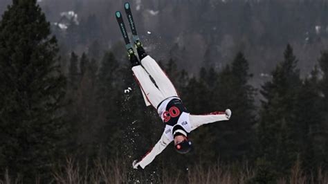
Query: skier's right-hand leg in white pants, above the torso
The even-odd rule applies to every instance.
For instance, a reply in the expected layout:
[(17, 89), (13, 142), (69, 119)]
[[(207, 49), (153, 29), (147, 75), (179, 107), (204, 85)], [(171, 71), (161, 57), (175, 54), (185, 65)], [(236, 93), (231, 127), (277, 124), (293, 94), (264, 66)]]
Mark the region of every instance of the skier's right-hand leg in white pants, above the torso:
[(149, 75), (153, 77), (158, 89), (163, 93), (165, 98), (179, 96), (170, 79), (152, 57), (146, 55), (141, 59), (141, 64), (145, 67)]

